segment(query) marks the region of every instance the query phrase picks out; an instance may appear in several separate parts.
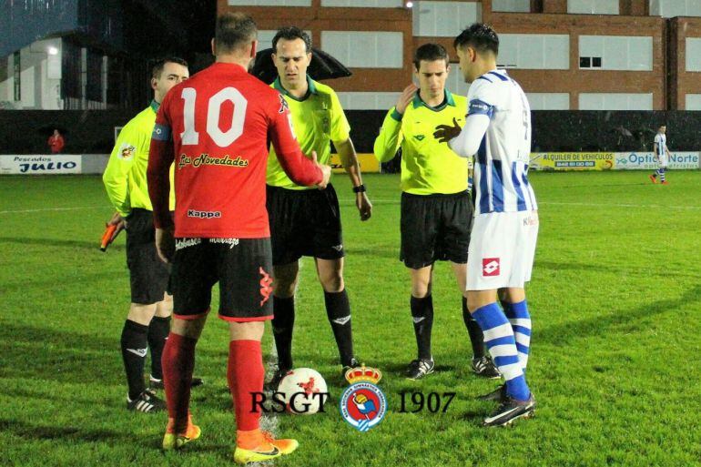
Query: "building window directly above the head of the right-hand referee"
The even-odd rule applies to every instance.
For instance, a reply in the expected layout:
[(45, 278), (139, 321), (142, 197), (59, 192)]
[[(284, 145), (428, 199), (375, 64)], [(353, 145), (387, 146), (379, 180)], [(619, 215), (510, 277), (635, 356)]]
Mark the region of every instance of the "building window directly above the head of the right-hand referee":
[(476, 2), (414, 2), (413, 35), (454, 37), (465, 25), (482, 21), (482, 4)]

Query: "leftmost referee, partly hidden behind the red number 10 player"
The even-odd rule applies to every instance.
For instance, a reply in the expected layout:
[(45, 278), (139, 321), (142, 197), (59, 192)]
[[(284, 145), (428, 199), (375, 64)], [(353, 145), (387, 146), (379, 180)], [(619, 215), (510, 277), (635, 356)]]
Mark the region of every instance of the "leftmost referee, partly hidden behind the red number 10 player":
[[(121, 348), (127, 371), (127, 409), (162, 411), (163, 401), (155, 389), (163, 388), (161, 353), (170, 331), (173, 300), (167, 293), (168, 268), (158, 259), (154, 243), (153, 213), (148, 199), (146, 168), (148, 147), (156, 122), (158, 106), (170, 88), (188, 79), (188, 63), (177, 57), (157, 61), (151, 71), (153, 100), (137, 117), (129, 120), (117, 137), (102, 179), (107, 197), (117, 211), (109, 220), (116, 225), (113, 239), (127, 229), (127, 267), (131, 286), (131, 306), (122, 330)], [(174, 194), (170, 208), (174, 208)], [(144, 383), (144, 362), (151, 349), (151, 375), (147, 389)], [(195, 379), (194, 385), (201, 384)]]

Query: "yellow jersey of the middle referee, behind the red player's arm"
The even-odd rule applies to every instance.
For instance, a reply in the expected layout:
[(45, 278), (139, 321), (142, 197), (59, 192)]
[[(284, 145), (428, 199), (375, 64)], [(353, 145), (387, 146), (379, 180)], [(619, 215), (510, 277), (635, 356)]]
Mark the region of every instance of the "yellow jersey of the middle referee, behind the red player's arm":
[[(282, 87), (279, 77), (270, 85), (285, 97), (290, 106), (292, 131), (300, 143), (302, 152), (310, 156), (311, 151), (317, 151), (320, 164), (330, 164), (330, 141), (346, 141), (351, 135), (351, 126), (348, 124), (346, 114), (340, 107), (339, 96), (329, 86), (317, 83), (307, 76), (309, 90), (302, 98), (291, 96)], [(279, 165), (275, 149), (270, 147), (268, 157), (268, 172), (266, 183), (273, 187), (289, 189), (316, 189), (315, 187), (302, 187), (295, 184), (287, 176)]]

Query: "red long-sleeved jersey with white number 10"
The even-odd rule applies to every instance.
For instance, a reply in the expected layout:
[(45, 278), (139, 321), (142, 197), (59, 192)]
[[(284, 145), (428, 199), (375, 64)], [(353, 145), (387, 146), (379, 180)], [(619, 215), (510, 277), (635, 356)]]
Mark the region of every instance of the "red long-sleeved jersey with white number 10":
[(168, 168), (175, 161), (176, 237), (269, 237), (270, 142), (295, 183), (320, 183), (320, 169), (292, 133), (284, 98), (242, 66), (218, 62), (173, 87), (158, 109), (148, 158), (156, 227), (172, 225)]

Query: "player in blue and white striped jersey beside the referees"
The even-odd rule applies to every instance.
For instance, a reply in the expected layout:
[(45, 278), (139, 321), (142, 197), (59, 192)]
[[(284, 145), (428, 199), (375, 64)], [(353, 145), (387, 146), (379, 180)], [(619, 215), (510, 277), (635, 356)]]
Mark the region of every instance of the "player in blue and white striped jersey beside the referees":
[[(519, 86), (496, 69), (499, 38), (474, 24), (454, 41), (468, 91), (464, 126), (437, 127), (435, 136), (462, 157), (475, 157), (475, 218), (467, 259), (467, 306), (505, 384), (483, 399), (501, 405), (486, 426), (530, 416), (535, 407), (525, 380), (531, 318), (524, 283), (531, 279), (538, 211), (528, 182), (531, 108)], [(497, 293), (503, 309), (497, 304)]]

